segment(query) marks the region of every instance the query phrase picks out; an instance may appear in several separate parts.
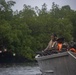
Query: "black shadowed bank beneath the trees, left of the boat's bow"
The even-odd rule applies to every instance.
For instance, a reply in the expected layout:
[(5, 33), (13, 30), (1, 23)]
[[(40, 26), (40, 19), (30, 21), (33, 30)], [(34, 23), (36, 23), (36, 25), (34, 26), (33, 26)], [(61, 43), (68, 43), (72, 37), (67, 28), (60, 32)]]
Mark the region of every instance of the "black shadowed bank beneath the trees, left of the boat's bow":
[(13, 56), (12, 54), (1, 54), (0, 53), (0, 63), (25, 63), (25, 62), (36, 62), (36, 60), (30, 60), (23, 56), (16, 55)]

